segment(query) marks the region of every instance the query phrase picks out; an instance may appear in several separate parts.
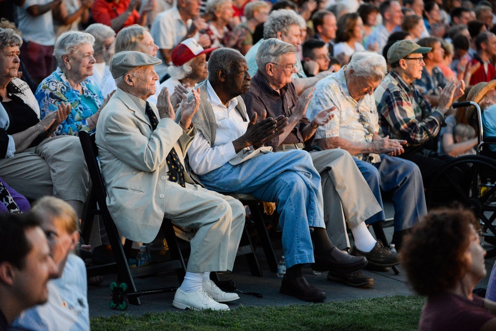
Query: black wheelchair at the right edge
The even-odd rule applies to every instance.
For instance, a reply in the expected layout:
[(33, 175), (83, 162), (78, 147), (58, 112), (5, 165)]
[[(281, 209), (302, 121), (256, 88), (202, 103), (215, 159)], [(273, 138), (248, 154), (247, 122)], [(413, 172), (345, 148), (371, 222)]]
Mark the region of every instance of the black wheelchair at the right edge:
[[(427, 206), (429, 210), (446, 206), (439, 203), (439, 200), (442, 200), (439, 195), (445, 194), (446, 191), (442, 192), (436, 188), (442, 186), (443, 190), (446, 190), (447, 185), (450, 195), (455, 197), (453, 202), (474, 212), (481, 221), (484, 239), (496, 246), (496, 226), (493, 224), (496, 220), (496, 152), (490, 150), (491, 145), (496, 146), (496, 137), (484, 137), (482, 111), (478, 104), (472, 101), (453, 104), (453, 108), (469, 106), (475, 107), (477, 114), (477, 154), (455, 158), (439, 171), (427, 192)], [(470, 168), (470, 173), (465, 174), (469, 180), (465, 187), (446, 175), (460, 166)], [(486, 258), (494, 256), (496, 247), (488, 250)]]

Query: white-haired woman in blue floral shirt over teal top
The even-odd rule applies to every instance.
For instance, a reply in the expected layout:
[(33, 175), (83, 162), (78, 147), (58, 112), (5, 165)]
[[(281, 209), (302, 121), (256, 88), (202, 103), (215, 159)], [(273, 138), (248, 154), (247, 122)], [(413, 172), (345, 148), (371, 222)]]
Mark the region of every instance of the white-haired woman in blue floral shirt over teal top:
[(89, 33), (63, 33), (57, 39), (54, 50), (58, 67), (36, 90), (35, 97), (42, 118), (56, 111), (61, 102), (72, 107), (70, 114), (57, 128), (56, 135), (76, 135), (80, 130), (93, 132), (96, 128), (104, 100), (98, 86), (88, 80), (96, 62), (94, 42), (95, 38)]

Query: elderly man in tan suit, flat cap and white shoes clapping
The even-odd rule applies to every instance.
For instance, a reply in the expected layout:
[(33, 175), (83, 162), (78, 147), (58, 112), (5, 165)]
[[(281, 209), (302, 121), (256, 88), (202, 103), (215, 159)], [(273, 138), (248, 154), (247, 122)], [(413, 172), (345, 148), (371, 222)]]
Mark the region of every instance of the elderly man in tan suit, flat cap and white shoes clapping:
[(245, 210), (242, 204), (195, 185), (184, 169), (184, 155), (196, 129), (191, 117), (199, 107), (199, 93), (186, 102), (180, 125), (169, 93), (159, 95), (157, 109), (146, 99), (155, 94), (158, 75), (153, 65), (161, 61), (140, 52), (120, 52), (110, 71), (117, 91), (102, 110), (96, 144), (108, 197), (107, 205), (121, 233), (131, 240), (150, 242), (162, 220), (198, 232), (191, 240), (185, 280), (173, 305), (180, 309), (229, 310), (219, 302), (239, 299), (221, 291), (210, 271), (232, 270), (240, 243)]

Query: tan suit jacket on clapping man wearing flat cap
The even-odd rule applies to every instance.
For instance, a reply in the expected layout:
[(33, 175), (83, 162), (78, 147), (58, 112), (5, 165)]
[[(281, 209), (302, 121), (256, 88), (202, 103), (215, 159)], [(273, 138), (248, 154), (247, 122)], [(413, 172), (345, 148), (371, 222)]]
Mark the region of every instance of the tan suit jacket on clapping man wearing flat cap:
[[(136, 103), (141, 104), (142, 110)], [(157, 118), (158, 110), (150, 103)], [(184, 196), (166, 192), (166, 157), (172, 147), (184, 164), (196, 129), (189, 135), (172, 119), (160, 119), (155, 130), (144, 113), (144, 101), (121, 89), (102, 110), (96, 144), (107, 188), (107, 206), (124, 237), (151, 242), (157, 235), (167, 204), (184, 203)], [(185, 173), (186, 181), (192, 183)]]

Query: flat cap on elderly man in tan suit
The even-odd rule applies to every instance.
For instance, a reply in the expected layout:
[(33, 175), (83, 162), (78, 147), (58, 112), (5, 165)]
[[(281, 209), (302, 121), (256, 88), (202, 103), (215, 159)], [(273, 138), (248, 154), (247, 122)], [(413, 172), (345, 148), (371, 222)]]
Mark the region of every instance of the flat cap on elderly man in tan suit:
[(110, 59), (112, 77), (121, 77), (136, 67), (160, 64), (162, 61), (155, 56), (136, 51), (119, 52)]

